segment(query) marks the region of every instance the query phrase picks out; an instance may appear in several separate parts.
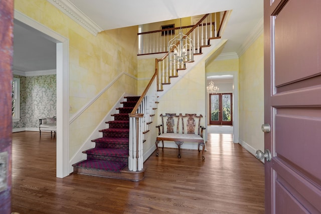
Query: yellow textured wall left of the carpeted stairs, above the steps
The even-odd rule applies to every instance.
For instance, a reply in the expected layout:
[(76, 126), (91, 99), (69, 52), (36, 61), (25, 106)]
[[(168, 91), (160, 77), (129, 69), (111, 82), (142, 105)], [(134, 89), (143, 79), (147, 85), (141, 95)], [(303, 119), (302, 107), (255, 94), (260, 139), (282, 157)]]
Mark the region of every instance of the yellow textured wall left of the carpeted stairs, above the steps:
[[(69, 39), (70, 115), (122, 75), (69, 127), (69, 157), (85, 142), (124, 93), (137, 90), (138, 27), (110, 30), (97, 36), (67, 17), (46, 0), (16, 0), (15, 9)], [(112, 21), (110, 21), (112, 22)]]

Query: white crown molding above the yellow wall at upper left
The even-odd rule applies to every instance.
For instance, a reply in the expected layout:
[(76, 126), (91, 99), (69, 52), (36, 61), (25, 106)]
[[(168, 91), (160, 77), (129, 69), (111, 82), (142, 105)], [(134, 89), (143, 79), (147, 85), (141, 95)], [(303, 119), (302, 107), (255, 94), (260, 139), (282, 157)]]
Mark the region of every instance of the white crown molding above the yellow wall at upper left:
[(83, 12), (81, 12), (74, 4), (68, 0), (47, 0), (49, 3), (54, 5), (68, 17), (73, 19), (76, 23), (81, 25), (84, 29), (89, 31), (92, 35), (97, 36), (97, 34), (103, 29), (101, 29), (96, 23), (94, 23), (89, 17), (87, 17)]

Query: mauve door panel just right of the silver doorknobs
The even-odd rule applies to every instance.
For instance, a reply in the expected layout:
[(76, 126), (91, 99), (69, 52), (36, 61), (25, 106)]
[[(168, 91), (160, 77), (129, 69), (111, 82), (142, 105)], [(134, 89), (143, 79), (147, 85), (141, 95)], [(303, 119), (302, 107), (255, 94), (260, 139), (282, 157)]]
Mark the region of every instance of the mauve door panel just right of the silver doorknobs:
[[(281, 159), (294, 164), (294, 168), (321, 177), (320, 167), (311, 164), (321, 151), (321, 117), (297, 116), (295, 114), (282, 114), (275, 116), (275, 152)], [(304, 109), (301, 109), (304, 112)], [(293, 111), (292, 111), (293, 112)], [(319, 139), (319, 140), (314, 140)], [(313, 148), (313, 149), (311, 149)], [(320, 163), (320, 161), (318, 161)]]

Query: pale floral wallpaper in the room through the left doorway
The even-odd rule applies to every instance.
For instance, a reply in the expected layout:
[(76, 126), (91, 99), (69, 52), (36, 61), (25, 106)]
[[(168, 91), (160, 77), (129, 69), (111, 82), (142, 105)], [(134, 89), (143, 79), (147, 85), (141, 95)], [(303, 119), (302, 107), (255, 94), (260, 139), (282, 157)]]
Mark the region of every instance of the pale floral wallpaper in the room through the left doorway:
[(57, 114), (56, 75), (18, 78), (21, 78), (21, 120), (13, 123), (13, 128), (38, 128), (40, 118), (53, 117)]

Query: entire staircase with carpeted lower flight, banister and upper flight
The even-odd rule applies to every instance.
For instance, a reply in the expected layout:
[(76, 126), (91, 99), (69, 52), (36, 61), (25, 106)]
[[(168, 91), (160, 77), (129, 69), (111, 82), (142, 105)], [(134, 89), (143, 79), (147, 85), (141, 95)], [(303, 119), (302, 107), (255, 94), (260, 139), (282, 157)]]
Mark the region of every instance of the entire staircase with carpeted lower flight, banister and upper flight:
[[(172, 66), (168, 63), (168, 57), (173, 57), (173, 50), (166, 52), (162, 59), (155, 59), (155, 73), (142, 95), (125, 97), (127, 101), (121, 102), (123, 107), (116, 109), (119, 113), (112, 115), (114, 121), (106, 122), (109, 127), (100, 130), (103, 137), (92, 140), (95, 142), (95, 148), (83, 151), (87, 154), (87, 159), (72, 165), (74, 173), (132, 181), (144, 178), (144, 134), (149, 131), (148, 125), (151, 123), (151, 116), (154, 115), (158, 97), (182, 79), (201, 59), (216, 52), (226, 42), (220, 44), (221, 38), (217, 36), (216, 24), (214, 28), (211, 27), (212, 16), (208, 15), (187, 33), (188, 36), (193, 32), (195, 39), (200, 38), (197, 46), (194, 46), (197, 47), (193, 50), (194, 61)], [(210, 22), (206, 21), (206, 18), (209, 18)]]

